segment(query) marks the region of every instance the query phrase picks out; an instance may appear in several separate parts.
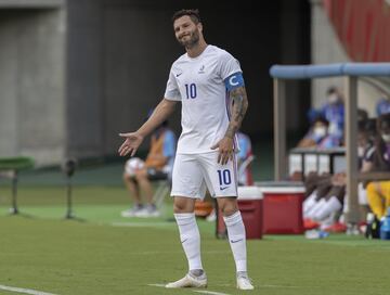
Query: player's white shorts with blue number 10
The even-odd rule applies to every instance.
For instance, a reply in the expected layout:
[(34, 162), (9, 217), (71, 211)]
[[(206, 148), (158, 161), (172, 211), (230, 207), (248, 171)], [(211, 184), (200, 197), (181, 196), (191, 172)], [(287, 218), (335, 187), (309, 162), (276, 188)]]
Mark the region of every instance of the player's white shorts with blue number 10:
[(204, 198), (207, 185), (213, 197), (237, 196), (237, 162), (221, 165), (217, 163), (218, 154), (177, 154), (171, 195)]

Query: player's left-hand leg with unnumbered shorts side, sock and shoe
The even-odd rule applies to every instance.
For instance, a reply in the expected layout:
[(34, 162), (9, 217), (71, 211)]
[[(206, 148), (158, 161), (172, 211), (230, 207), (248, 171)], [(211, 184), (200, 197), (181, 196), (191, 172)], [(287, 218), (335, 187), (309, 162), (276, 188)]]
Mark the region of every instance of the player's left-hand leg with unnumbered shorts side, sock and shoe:
[(178, 223), (180, 242), (188, 261), (188, 273), (166, 287), (207, 286), (200, 258), (200, 234), (195, 218), (195, 200), (203, 197), (206, 187), (196, 159), (192, 155), (178, 154), (172, 175), (173, 213)]

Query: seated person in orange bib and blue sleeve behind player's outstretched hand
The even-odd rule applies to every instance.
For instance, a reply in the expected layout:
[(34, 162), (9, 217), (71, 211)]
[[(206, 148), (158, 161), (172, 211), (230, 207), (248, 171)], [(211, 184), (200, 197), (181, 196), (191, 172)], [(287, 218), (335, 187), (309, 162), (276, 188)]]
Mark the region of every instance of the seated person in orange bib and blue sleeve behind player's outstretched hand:
[[(150, 115), (152, 112), (150, 112)], [(123, 171), (123, 181), (133, 207), (123, 210), (122, 217), (157, 217), (159, 211), (153, 201), (151, 180), (167, 179), (169, 181), (176, 153), (176, 136), (164, 121), (151, 138), (151, 148), (145, 162), (140, 158), (127, 161)], [(146, 204), (143, 204), (141, 192), (144, 193)]]

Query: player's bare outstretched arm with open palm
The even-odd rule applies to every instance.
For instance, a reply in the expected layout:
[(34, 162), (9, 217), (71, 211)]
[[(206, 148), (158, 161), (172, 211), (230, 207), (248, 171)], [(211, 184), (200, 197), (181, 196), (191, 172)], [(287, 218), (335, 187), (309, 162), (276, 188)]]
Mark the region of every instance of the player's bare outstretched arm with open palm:
[(147, 121), (145, 121), (139, 130), (135, 132), (119, 133), (121, 138), (126, 139), (118, 150), (119, 155), (126, 156), (130, 154), (133, 156), (144, 138), (173, 113), (176, 105), (177, 101), (162, 99)]

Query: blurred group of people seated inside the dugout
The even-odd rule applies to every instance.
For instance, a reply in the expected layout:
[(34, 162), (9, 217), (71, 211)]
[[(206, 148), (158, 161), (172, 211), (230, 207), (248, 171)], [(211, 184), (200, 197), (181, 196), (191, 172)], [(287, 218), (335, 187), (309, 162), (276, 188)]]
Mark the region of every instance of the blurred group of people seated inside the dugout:
[[(344, 145), (344, 100), (339, 89), (332, 87), (326, 92), (326, 103), (308, 113), (310, 128), (297, 144), (298, 148), (328, 150)], [(326, 232), (365, 233), (378, 236), (378, 230), (390, 207), (390, 99), (378, 100), (376, 116), (369, 117), (364, 108), (358, 112), (359, 171), (379, 172), (378, 179), (365, 179), (359, 183), (360, 223), (349, 227), (344, 222), (348, 211), (346, 171), (336, 174), (308, 171), (303, 181), (304, 227)], [(384, 180), (385, 179), (385, 180)], [(375, 233), (375, 231), (377, 233)]]

